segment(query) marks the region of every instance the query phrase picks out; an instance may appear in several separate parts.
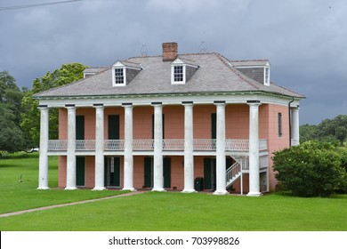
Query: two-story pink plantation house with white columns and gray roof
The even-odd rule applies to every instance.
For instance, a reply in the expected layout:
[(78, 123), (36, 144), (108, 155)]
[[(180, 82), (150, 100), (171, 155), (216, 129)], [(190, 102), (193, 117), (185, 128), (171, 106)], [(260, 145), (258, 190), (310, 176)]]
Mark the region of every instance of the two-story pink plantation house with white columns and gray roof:
[[(160, 56), (87, 68), (34, 96), (41, 111), (39, 186), (59, 156), (65, 189), (211, 190), (259, 196), (276, 186), (271, 153), (299, 141), (304, 97), (270, 82), (269, 60), (219, 53)], [(59, 108), (59, 140), (48, 139)]]

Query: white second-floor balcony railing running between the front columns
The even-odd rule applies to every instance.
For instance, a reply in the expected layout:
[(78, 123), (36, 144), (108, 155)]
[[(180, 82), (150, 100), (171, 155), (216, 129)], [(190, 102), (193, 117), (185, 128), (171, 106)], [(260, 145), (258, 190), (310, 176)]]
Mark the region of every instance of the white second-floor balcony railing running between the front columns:
[[(259, 150), (266, 150), (267, 140), (259, 141)], [(68, 149), (67, 140), (51, 140), (48, 141), (49, 151), (66, 151)], [(105, 140), (103, 149), (106, 151), (123, 151), (125, 149), (124, 140)], [(154, 140), (133, 140), (133, 150), (151, 151), (154, 149)], [(216, 140), (196, 139), (193, 141), (193, 149), (195, 151), (214, 151), (216, 150)], [(95, 150), (94, 140), (77, 140), (77, 151), (93, 151)], [(163, 140), (163, 150), (184, 150), (184, 139)], [(248, 140), (225, 140), (226, 151), (248, 151)]]

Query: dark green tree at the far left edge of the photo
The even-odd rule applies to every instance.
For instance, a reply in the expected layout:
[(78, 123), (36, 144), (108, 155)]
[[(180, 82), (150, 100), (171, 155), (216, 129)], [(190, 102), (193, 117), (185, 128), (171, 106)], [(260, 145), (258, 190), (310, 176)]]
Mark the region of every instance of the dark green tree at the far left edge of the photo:
[(0, 72), (0, 150), (14, 152), (26, 147), (20, 129), (22, 96), (14, 77)]

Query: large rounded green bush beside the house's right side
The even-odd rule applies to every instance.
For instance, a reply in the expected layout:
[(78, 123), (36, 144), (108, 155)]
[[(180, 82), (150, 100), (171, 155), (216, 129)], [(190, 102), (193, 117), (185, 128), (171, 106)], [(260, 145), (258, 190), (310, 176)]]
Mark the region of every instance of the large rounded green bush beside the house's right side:
[(341, 150), (327, 142), (306, 141), (274, 153), (276, 178), (299, 197), (327, 197), (346, 189)]

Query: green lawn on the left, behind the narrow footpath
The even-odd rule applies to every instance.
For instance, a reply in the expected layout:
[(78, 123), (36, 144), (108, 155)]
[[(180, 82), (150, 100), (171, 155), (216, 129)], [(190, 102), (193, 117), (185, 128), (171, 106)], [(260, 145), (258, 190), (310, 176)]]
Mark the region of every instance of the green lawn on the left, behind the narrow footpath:
[(58, 186), (58, 157), (49, 157), (50, 190), (37, 190), (38, 157), (0, 159), (0, 213), (114, 196), (123, 191), (67, 191)]

